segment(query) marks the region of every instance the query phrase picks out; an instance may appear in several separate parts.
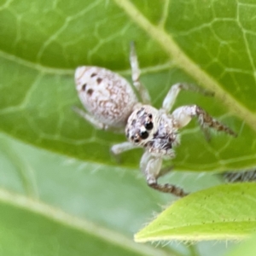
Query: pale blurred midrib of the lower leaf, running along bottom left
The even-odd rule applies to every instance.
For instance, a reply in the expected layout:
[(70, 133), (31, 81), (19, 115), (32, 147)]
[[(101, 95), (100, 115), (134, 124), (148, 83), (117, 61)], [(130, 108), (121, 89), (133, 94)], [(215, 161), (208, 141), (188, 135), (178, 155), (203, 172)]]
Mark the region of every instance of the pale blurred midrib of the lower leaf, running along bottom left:
[(119, 247), (129, 249), (135, 253), (140, 253), (141, 255), (170, 255), (170, 252), (166, 253), (153, 247), (137, 245), (136, 243), (132, 242), (131, 239), (128, 239), (119, 233), (115, 233), (112, 230), (107, 230), (101, 226), (92, 224), (89, 221), (85, 221), (84, 219), (70, 216), (66, 212), (61, 212), (61, 210), (57, 210), (54, 207), (45, 205), (42, 202), (28, 199), (23, 195), (11, 194), (4, 189), (0, 189), (0, 203), (1, 202), (9, 204), (13, 207), (24, 209), (28, 212), (37, 213), (45, 218), (49, 218), (49, 220), (68, 226), (73, 230), (80, 230), (81, 232), (89, 233), (92, 236), (99, 237), (104, 241), (108, 241), (111, 244), (116, 244)]

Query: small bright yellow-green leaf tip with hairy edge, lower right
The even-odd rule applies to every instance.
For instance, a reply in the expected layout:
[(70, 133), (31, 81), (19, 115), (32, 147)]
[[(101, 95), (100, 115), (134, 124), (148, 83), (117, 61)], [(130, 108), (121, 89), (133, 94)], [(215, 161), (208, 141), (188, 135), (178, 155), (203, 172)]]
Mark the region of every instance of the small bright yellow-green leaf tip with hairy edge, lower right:
[(176, 201), (135, 241), (239, 240), (256, 230), (256, 185), (224, 184)]

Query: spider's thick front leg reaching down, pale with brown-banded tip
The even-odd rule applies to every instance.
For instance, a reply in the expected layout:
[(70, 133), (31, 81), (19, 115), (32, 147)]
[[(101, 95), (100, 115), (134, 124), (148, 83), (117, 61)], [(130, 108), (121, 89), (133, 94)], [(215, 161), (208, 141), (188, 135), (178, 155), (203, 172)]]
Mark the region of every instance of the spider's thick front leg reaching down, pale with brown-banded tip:
[(160, 172), (161, 172), (162, 161), (163, 160), (160, 157), (155, 158), (152, 155), (150, 155), (150, 153), (147, 151), (143, 154), (140, 166), (143, 173), (146, 176), (148, 186), (153, 189), (157, 189), (161, 192), (170, 193), (180, 197), (188, 195), (183, 191), (183, 189), (180, 189), (172, 184), (157, 183), (157, 178), (161, 176)]

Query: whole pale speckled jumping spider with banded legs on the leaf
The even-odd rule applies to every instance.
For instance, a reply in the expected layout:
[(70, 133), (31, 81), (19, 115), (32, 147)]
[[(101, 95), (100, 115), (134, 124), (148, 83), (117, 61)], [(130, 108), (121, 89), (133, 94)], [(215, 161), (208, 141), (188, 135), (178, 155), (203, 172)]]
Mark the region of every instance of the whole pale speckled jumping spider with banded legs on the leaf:
[(175, 157), (174, 148), (180, 144), (178, 130), (188, 125), (192, 118), (196, 118), (206, 137), (208, 128), (224, 131), (234, 137), (236, 133), (197, 105), (182, 106), (170, 113), (180, 90), (194, 90), (204, 95), (212, 95), (193, 84), (172, 85), (162, 107), (156, 109), (151, 106), (148, 90), (139, 80), (140, 69), (133, 43), (130, 62), (133, 87), (137, 90), (140, 101), (131, 84), (119, 74), (102, 67), (83, 66), (76, 69), (75, 84), (87, 112), (79, 108), (74, 108), (74, 111), (97, 129), (125, 130), (128, 141), (113, 145), (113, 154), (132, 148), (144, 148), (140, 168), (149, 187), (177, 196), (188, 195), (175, 185), (157, 183), (158, 178), (168, 172), (167, 169), (161, 169), (163, 159)]

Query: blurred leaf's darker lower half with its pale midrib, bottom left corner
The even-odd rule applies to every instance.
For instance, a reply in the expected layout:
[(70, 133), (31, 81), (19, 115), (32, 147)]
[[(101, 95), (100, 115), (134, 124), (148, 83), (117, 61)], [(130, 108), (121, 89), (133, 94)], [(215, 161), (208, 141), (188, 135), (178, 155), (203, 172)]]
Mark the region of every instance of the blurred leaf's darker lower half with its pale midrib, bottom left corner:
[(0, 207), (3, 255), (167, 255), (3, 189)]

